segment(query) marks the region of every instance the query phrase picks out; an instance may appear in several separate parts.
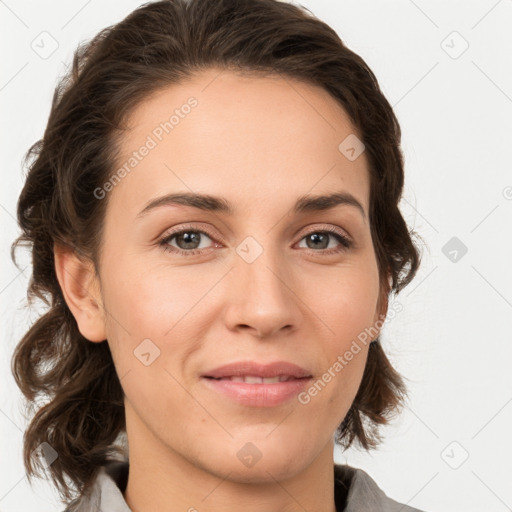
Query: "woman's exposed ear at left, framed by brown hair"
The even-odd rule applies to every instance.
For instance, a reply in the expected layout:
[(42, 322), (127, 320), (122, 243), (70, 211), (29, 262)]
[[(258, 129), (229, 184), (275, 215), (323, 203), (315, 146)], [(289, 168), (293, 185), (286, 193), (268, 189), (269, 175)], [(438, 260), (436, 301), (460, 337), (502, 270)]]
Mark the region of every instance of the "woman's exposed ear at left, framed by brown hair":
[(57, 243), (53, 255), (57, 279), (78, 330), (89, 341), (104, 341), (105, 309), (93, 262), (79, 258), (71, 248)]

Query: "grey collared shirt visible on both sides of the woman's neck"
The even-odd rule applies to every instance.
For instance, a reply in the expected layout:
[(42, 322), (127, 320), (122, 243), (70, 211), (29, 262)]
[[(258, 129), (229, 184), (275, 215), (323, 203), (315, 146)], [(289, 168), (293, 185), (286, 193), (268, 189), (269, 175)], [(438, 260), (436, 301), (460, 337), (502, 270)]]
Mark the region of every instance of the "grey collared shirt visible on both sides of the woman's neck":
[[(123, 496), (128, 470), (128, 461), (108, 462), (98, 472), (90, 498), (74, 500), (64, 512), (132, 512)], [(338, 512), (423, 512), (388, 498), (368, 473), (348, 465), (334, 465), (334, 491)]]

